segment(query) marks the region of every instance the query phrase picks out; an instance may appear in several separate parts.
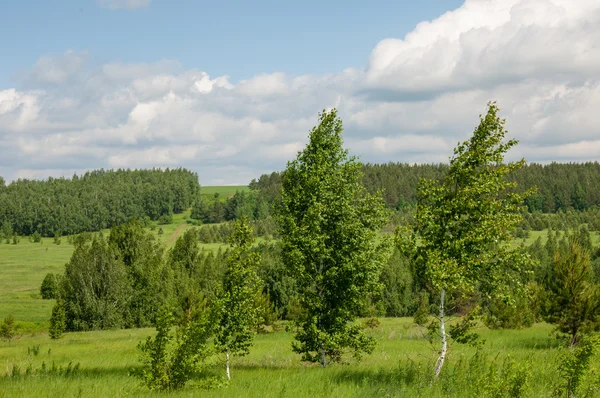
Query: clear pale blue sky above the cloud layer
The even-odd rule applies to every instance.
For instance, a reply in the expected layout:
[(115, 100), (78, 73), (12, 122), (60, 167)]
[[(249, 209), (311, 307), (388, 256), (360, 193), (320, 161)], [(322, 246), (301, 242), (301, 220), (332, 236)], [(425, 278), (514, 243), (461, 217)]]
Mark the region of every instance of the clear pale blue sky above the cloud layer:
[(457, 0), (152, 0), (108, 9), (94, 0), (7, 1), (2, 6), (0, 87), (40, 55), (88, 51), (95, 62), (173, 59), (183, 68), (229, 75), (322, 74), (363, 67), (381, 39), (458, 7)]

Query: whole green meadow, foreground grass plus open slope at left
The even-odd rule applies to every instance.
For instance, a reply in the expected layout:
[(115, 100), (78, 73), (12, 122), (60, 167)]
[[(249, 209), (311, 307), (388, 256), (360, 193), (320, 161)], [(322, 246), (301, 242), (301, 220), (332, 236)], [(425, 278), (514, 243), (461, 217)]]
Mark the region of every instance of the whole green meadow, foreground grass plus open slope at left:
[[(207, 188), (203, 187), (203, 193)], [(230, 189), (213, 191), (225, 195)], [(152, 232), (171, 246), (193, 227), (188, 217), (189, 211), (175, 215), (172, 224), (157, 226)], [(160, 235), (159, 228), (163, 230)], [(525, 243), (531, 244), (538, 236), (545, 241), (546, 233), (532, 231)], [(597, 245), (598, 233), (592, 238)], [(216, 250), (221, 245), (202, 246)], [(377, 340), (375, 351), (361, 361), (347, 358), (347, 363), (325, 369), (306, 364), (292, 352), (293, 332), (286, 328), (290, 325), (281, 322), (276, 331), (256, 336), (250, 355), (233, 360), (231, 382), (212, 388), (206, 385), (204, 380), (224, 377), (224, 358), (212, 356), (205, 371), (182, 391), (151, 393), (130, 372), (139, 366), (138, 342), (154, 329), (76, 332), (65, 333), (59, 340), (49, 338), (54, 300), (41, 299), (40, 284), (48, 272), (63, 271), (72, 251), (66, 237), (60, 245), (51, 238), (32, 243), (26, 237), (16, 245), (0, 244), (0, 320), (10, 313), (19, 326), (16, 338), (0, 341), (0, 397), (475, 397), (499, 396), (503, 388), (510, 395), (506, 389), (510, 386), (521, 386), (524, 393), (520, 396), (543, 397), (551, 396), (559, 381), (558, 362), (564, 348), (547, 324), (521, 330), (476, 327), (485, 340), (482, 348), (453, 344), (441, 378), (433, 382), (438, 342), (431, 345), (412, 318), (381, 318), (379, 325), (367, 329)], [(596, 355), (595, 363), (599, 359)], [(511, 361), (521, 373), (514, 371)], [(600, 396), (595, 390), (589, 393)]]

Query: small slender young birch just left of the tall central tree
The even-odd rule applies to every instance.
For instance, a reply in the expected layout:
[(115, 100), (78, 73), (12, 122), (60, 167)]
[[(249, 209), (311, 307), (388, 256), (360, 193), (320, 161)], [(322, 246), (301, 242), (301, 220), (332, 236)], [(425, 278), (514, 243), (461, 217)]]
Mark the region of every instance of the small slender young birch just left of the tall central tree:
[[(249, 251), (253, 241), (252, 226), (242, 217), (234, 224), (223, 285), (214, 305), (215, 347), (218, 352), (227, 354), (227, 361), (230, 355), (248, 354), (254, 330), (261, 321), (256, 302), (262, 288), (256, 274), (260, 255)], [(229, 369), (229, 362), (227, 366)]]

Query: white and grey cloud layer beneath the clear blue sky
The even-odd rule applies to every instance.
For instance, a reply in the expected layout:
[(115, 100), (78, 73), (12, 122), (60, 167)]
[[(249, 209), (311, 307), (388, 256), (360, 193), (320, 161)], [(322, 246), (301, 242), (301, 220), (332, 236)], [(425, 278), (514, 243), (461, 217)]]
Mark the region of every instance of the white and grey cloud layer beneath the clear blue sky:
[[(148, 1), (103, 1), (134, 8)], [(511, 158), (600, 160), (600, 4), (467, 0), (382, 40), (364, 69), (233, 82), (176, 61), (105, 64), (42, 56), (23, 88), (0, 90), (0, 175), (188, 167), (203, 185), (281, 170), (323, 108), (366, 162), (443, 162), (497, 100)]]

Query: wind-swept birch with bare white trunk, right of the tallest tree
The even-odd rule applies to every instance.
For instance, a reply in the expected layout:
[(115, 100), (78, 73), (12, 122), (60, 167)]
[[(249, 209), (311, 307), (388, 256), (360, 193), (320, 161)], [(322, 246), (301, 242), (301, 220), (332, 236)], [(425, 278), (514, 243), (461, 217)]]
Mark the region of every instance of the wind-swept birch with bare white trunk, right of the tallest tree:
[[(412, 242), (418, 241), (415, 259), (430, 290), (439, 295), (441, 349), (435, 364), (437, 377), (448, 351), (447, 295), (477, 291), (484, 299), (502, 294), (501, 286), (527, 261), (511, 249), (510, 231), (521, 220), (524, 199), (533, 193), (516, 193), (509, 175), (525, 164), (504, 163), (504, 154), (517, 144), (503, 141), (505, 120), (498, 107), (488, 103), (485, 116), (471, 138), (454, 150), (442, 181), (421, 180), (417, 192)], [(402, 240), (402, 239), (401, 239)]]

